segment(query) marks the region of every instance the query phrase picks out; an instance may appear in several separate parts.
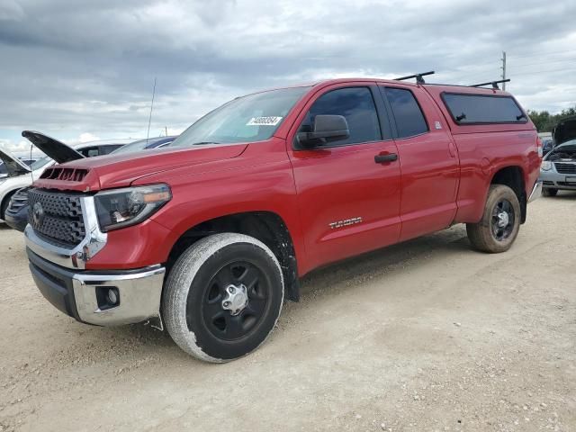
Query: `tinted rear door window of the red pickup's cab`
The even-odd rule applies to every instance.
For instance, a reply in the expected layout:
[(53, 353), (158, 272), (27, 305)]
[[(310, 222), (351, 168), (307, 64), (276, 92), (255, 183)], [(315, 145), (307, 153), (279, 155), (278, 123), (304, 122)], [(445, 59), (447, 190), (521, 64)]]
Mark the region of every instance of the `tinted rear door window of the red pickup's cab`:
[(385, 94), (392, 107), (398, 138), (408, 138), (428, 132), (428, 123), (410, 90), (387, 87)]

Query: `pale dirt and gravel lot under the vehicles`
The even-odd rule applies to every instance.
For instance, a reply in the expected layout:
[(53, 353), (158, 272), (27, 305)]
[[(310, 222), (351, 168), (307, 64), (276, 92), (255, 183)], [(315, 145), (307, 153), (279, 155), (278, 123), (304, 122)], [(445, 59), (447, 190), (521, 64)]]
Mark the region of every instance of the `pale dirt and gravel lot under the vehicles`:
[(0, 431), (576, 430), (576, 193), (504, 255), (462, 226), (309, 275), (255, 354), (185, 356), (54, 309), (0, 228)]

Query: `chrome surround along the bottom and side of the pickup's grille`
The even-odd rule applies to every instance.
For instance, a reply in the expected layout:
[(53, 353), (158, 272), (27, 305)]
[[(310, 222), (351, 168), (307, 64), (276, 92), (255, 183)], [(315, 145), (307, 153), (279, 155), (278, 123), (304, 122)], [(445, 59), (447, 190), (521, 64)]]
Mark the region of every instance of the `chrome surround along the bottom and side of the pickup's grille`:
[(100, 230), (94, 207), (93, 196), (80, 198), (85, 225), (85, 238), (71, 249), (58, 247), (40, 238), (30, 224), (24, 229), (26, 246), (40, 257), (46, 258), (58, 266), (85, 269), (86, 262), (94, 257), (106, 245), (107, 234)]

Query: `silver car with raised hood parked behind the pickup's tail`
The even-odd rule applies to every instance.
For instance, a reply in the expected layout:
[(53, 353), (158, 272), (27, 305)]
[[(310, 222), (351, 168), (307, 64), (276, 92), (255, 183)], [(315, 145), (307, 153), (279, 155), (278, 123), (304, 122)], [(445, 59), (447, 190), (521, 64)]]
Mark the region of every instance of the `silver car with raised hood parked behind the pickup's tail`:
[(576, 117), (560, 121), (553, 131), (554, 149), (540, 167), (543, 194), (555, 196), (559, 190), (576, 190)]

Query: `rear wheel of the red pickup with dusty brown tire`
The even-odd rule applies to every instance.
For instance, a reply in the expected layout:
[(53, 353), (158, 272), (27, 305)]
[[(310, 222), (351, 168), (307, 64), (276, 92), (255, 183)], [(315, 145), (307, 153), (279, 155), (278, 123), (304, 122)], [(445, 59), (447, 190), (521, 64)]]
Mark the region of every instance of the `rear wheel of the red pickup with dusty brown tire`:
[[(507, 216), (499, 217), (498, 214)], [(466, 232), (473, 247), (491, 254), (507, 251), (514, 243), (520, 229), (520, 203), (509, 186), (492, 184), (478, 223), (466, 224)], [(505, 226), (500, 226), (506, 222)]]

